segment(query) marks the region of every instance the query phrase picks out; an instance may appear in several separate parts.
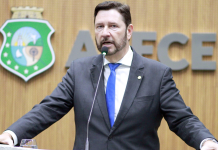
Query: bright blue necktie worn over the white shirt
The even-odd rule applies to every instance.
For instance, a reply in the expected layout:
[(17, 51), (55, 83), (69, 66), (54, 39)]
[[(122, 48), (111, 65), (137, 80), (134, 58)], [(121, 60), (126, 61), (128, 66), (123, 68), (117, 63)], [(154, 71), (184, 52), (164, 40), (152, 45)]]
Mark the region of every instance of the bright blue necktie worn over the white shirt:
[(116, 81), (115, 69), (119, 65), (120, 64), (114, 64), (114, 63), (108, 64), (111, 73), (107, 81), (106, 101), (107, 101), (107, 110), (108, 110), (111, 127), (114, 125), (114, 113), (115, 113), (115, 81)]

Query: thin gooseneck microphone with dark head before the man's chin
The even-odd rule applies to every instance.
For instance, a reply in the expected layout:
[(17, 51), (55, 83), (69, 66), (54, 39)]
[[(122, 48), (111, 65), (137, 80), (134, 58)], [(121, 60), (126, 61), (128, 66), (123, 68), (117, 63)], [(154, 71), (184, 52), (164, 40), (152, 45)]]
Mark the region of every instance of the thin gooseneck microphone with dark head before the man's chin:
[(86, 135), (85, 150), (89, 150), (89, 123), (90, 123), (90, 120), (91, 120), (92, 110), (93, 110), (93, 107), (94, 107), (94, 104), (95, 104), (96, 94), (97, 94), (97, 91), (98, 91), (98, 86), (99, 86), (99, 82), (100, 82), (100, 79), (101, 79), (102, 70), (103, 70), (103, 67), (104, 67), (104, 58), (105, 58), (105, 55), (107, 55), (107, 53), (108, 53), (108, 47), (105, 47), (105, 46), (102, 47), (101, 48), (101, 53), (103, 55), (103, 63), (102, 63), (100, 75), (98, 77), (98, 83), (97, 83), (97, 86), (96, 86), (96, 89), (95, 89), (95, 94), (94, 94), (94, 98), (93, 98), (93, 102), (92, 102), (92, 107), (91, 107), (88, 122), (87, 122), (87, 131), (86, 131), (87, 135)]

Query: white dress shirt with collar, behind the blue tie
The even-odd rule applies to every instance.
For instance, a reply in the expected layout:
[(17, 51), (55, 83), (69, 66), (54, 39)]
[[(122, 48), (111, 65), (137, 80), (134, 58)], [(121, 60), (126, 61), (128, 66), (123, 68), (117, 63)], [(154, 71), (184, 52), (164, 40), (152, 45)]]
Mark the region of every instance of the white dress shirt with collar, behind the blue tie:
[[(119, 60), (117, 63), (121, 65), (118, 66), (115, 70), (116, 72), (116, 81), (115, 81), (115, 114), (114, 122), (117, 118), (117, 114), (120, 110), (120, 106), (123, 100), (124, 92), (126, 90), (126, 85), (129, 77), (130, 66), (132, 64), (133, 52), (129, 47), (126, 55)], [(107, 80), (110, 76), (110, 68), (108, 66), (110, 62), (105, 58), (104, 59), (104, 88), (106, 93)]]

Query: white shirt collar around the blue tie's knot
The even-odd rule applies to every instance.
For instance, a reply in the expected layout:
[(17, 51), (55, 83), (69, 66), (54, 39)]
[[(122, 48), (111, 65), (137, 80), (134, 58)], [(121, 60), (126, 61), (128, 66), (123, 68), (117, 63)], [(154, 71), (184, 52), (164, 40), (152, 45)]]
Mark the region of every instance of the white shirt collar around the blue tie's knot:
[[(129, 47), (129, 50), (126, 53), (126, 55), (124, 55), (124, 57), (122, 59), (120, 59), (117, 63), (120, 63), (120, 64), (125, 65), (125, 66), (131, 66), (132, 58), (133, 58), (133, 52), (132, 52), (131, 47)], [(106, 58), (104, 58), (104, 66), (109, 64), (109, 63), (110, 62)]]

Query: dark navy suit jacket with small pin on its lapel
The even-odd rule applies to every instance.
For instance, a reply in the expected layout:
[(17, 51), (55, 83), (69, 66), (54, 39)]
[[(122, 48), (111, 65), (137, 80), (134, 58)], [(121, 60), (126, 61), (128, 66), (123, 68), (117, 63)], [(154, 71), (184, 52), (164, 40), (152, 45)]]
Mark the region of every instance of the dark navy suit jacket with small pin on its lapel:
[[(84, 150), (102, 61), (102, 55), (73, 61), (53, 93), (8, 129), (15, 132), (20, 142), (36, 136), (74, 107), (74, 150)], [(90, 150), (159, 150), (157, 130), (163, 117), (170, 130), (195, 149), (199, 149), (203, 139), (214, 138), (185, 105), (172, 78), (169, 67), (133, 50), (127, 87), (111, 128), (102, 76), (90, 122)]]

